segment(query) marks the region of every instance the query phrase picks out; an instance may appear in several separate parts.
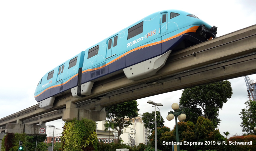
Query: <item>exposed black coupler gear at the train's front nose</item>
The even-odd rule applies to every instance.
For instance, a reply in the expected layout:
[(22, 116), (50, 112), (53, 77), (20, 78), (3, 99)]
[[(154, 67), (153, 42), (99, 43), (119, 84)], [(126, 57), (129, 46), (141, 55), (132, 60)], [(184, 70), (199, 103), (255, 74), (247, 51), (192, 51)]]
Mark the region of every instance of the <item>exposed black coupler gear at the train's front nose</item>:
[(201, 24), (196, 30), (196, 34), (206, 40), (210, 40), (212, 38), (216, 38), (217, 27), (213, 26), (209, 30), (204, 26), (204, 24)]

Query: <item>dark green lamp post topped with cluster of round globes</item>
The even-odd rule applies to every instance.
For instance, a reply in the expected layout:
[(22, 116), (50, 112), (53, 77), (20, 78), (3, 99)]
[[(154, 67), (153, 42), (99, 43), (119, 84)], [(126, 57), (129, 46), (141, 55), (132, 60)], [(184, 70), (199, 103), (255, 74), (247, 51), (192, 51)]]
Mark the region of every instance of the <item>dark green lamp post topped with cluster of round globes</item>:
[[(175, 117), (175, 123), (176, 123), (176, 141), (177, 142), (180, 142), (179, 141), (179, 131), (178, 131), (178, 122), (177, 122), (177, 118), (182, 121), (184, 119), (186, 119), (186, 114), (184, 114), (184, 111), (179, 111), (177, 112), (177, 110), (179, 109), (179, 104), (178, 103), (173, 103), (171, 105), (171, 108), (174, 110), (173, 111), (170, 111), (168, 112), (168, 115), (166, 117), (167, 120), (172, 120), (174, 117)], [(177, 151), (180, 151), (180, 145), (177, 144)]]

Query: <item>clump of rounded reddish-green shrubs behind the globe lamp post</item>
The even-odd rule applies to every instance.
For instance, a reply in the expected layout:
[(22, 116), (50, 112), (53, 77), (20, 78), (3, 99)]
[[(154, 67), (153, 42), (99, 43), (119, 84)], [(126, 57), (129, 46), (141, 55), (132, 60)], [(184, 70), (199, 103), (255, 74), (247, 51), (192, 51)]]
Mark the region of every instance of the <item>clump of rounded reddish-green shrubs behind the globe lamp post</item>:
[[(178, 135), (179, 141), (182, 142), (180, 149), (188, 151), (196, 150), (209, 150), (216, 149), (218, 151), (226, 151), (227, 145), (214, 145), (214, 144), (205, 144), (206, 142), (218, 142), (225, 141), (227, 144), (227, 139), (222, 136), (219, 130), (215, 130), (213, 122), (204, 117), (198, 117), (196, 124), (187, 121), (187, 122), (178, 122)], [(151, 144), (155, 146), (155, 131), (152, 133)], [(200, 145), (185, 145), (184, 142), (199, 142)], [(172, 150), (172, 145), (165, 145), (164, 142), (177, 142), (176, 141), (176, 127), (170, 131), (167, 127), (157, 128), (157, 147), (160, 150)]]

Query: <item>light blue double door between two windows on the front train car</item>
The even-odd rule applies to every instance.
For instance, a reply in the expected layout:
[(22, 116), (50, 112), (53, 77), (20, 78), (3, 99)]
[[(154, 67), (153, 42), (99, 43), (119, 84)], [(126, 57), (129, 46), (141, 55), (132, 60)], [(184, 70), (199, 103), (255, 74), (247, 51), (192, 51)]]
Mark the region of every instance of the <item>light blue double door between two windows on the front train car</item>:
[(106, 58), (109, 58), (117, 54), (117, 40), (118, 35), (107, 40)]

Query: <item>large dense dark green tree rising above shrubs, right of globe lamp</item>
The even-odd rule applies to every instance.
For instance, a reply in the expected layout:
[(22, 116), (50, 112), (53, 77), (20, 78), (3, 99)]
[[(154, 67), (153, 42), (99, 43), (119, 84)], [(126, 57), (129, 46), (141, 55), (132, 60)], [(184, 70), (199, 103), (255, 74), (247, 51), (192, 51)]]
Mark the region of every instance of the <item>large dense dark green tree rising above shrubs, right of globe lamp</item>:
[[(231, 83), (229, 81), (220, 81), (207, 85), (201, 85), (193, 88), (184, 89), (180, 98), (181, 110), (185, 110), (188, 114), (186, 121), (191, 120), (195, 122), (197, 117), (202, 115), (200, 106), (203, 110), (203, 116), (210, 119), (214, 127), (217, 128), (220, 119), (219, 110), (223, 108), (223, 103), (226, 103), (233, 94)], [(193, 114), (190, 114), (190, 113)], [(196, 114), (195, 114), (196, 113)]]

